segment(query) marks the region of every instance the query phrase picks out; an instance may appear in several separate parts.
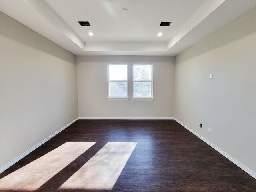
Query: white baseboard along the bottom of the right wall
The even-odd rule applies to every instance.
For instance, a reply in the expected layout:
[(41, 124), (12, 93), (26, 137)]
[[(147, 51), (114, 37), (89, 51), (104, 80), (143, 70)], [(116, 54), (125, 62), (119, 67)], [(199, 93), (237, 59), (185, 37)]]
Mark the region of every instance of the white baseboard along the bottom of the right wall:
[(204, 142), (206, 142), (208, 145), (210, 145), (212, 148), (214, 148), (216, 151), (218, 151), (220, 154), (222, 154), (224, 157), (226, 157), (228, 160), (230, 160), (231, 162), (233, 162), (234, 164), (236, 164), (238, 167), (240, 167), (242, 170), (244, 170), (246, 173), (248, 173), (250, 176), (252, 176), (253, 178), (256, 179), (256, 173), (253, 172), (252, 170), (250, 170), (248, 167), (244, 166), (242, 163), (240, 163), (238, 160), (234, 159), (232, 156), (230, 156), (229, 154), (227, 154), (226, 152), (224, 152), (223, 150), (221, 150), (220, 148), (218, 148), (216, 145), (212, 144), (210, 141), (208, 141), (206, 138), (202, 137), (200, 134), (198, 134), (197, 132), (195, 132), (194, 130), (190, 129), (188, 126), (186, 126), (185, 124), (183, 124), (182, 122), (180, 122), (178, 119), (174, 118), (174, 120), (176, 122), (178, 122), (179, 124), (181, 124), (182, 126), (184, 126), (184, 128), (186, 128), (187, 130), (189, 130), (190, 132), (192, 132), (195, 136), (197, 136), (198, 138), (200, 138), (201, 140), (203, 140)]

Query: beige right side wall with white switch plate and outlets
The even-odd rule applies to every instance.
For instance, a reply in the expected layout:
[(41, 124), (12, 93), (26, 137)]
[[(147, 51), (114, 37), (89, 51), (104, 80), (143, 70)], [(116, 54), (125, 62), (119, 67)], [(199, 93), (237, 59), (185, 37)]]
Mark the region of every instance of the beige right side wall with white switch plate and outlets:
[(175, 118), (256, 172), (256, 8), (178, 54), (175, 70)]

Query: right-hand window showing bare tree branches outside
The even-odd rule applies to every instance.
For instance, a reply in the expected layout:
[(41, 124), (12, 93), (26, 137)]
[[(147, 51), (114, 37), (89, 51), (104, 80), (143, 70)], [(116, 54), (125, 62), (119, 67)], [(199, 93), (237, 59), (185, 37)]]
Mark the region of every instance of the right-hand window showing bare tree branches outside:
[(133, 65), (133, 100), (153, 100), (153, 64)]

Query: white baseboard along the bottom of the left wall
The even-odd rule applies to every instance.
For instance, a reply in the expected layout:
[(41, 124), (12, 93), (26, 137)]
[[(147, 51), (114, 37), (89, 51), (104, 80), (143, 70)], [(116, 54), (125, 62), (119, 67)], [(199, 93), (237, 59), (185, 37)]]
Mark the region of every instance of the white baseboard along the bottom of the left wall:
[(33, 146), (32, 148), (30, 148), (29, 150), (27, 150), (26, 152), (22, 153), (21, 155), (19, 155), (18, 157), (16, 157), (14, 160), (10, 161), (9, 163), (5, 164), (4, 166), (2, 166), (0, 168), (0, 173), (2, 173), (3, 171), (5, 171), (6, 169), (8, 169), (10, 166), (12, 166), (13, 164), (15, 164), (16, 162), (18, 162), (19, 160), (21, 160), (22, 158), (24, 158), (26, 155), (30, 154), (32, 151), (34, 151), (36, 148), (40, 147), (42, 144), (44, 144), (46, 141), (50, 140), (51, 138), (53, 138), (56, 134), (58, 134), (59, 132), (61, 132), (62, 130), (64, 130), (65, 128), (67, 128), (68, 126), (70, 126), (72, 123), (76, 122), (76, 120), (78, 120), (78, 118), (72, 120), (70, 123), (66, 124), (64, 127), (62, 127), (61, 129), (59, 129), (58, 131), (56, 131), (55, 133), (51, 134), (50, 136), (48, 136), (47, 138), (45, 138), (44, 140), (42, 140), (41, 142), (39, 142), (38, 144), (36, 144), (35, 146)]

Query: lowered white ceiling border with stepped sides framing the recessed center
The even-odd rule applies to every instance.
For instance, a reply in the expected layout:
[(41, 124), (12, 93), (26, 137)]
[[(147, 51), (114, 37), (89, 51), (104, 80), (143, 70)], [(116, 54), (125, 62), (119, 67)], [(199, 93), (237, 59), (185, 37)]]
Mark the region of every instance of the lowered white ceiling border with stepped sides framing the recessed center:
[(42, 0), (1, 0), (0, 10), (76, 55), (176, 55), (255, 6), (256, 1), (207, 0), (164, 43), (86, 43)]

